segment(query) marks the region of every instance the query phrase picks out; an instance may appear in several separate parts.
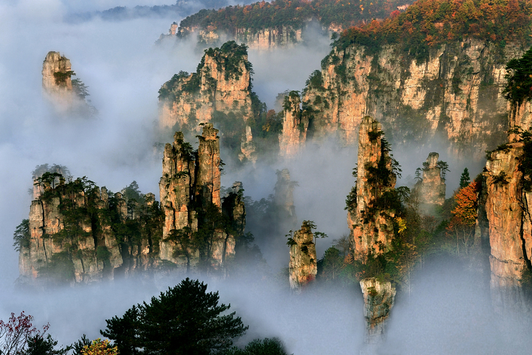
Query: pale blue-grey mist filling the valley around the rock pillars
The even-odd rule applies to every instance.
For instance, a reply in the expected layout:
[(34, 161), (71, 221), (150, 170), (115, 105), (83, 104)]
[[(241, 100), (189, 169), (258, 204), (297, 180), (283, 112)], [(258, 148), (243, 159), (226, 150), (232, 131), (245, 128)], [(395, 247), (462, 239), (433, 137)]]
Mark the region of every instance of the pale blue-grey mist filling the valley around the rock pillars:
[[(14, 291), (18, 255), (11, 247), (12, 236), (21, 220), (28, 218), (31, 171), (39, 164), (62, 164), (74, 177), (87, 176), (113, 192), (135, 180), (143, 193), (153, 192), (158, 199), (161, 157), (153, 143), (170, 142), (171, 135), (162, 137), (155, 129), (157, 91), (180, 70), (194, 72), (201, 59), (194, 39), (154, 44), (170, 26), (165, 18), (94, 19), (79, 24), (57, 21), (72, 9), (94, 11), (119, 5), (104, 0), (96, 4), (74, 6), (66, 0), (0, 4), (0, 48), (4, 53), (0, 57), (0, 161), (4, 163), (0, 171), (0, 319), (25, 310), (35, 317), (37, 326), (50, 322), (50, 333), (65, 345), (82, 334), (99, 337), (106, 319), (123, 315), (132, 305), (149, 300), (179, 280), (132, 278), (46, 293)], [(153, 0), (147, 4), (160, 3)], [(317, 32), (314, 38), (315, 42), (291, 50), (250, 50), (254, 91), (269, 108), (279, 92), (301, 90), (309, 74), (319, 68), (329, 41)], [(40, 72), (50, 50), (69, 58), (76, 77), (89, 86), (88, 98), (99, 111), (95, 118), (58, 116), (43, 99)], [(416, 167), (433, 151), (449, 164), (449, 197), (466, 165), (436, 146), (426, 151), (395, 151), (403, 169), (397, 185), (411, 184)], [(299, 184), (294, 190), (299, 225), (314, 220), (317, 229), (329, 236), (317, 242), (319, 258), (333, 239), (348, 233), (343, 208), (354, 184), (351, 172), (356, 161), (354, 147), (323, 142), (321, 147), (307, 147), (297, 159), (226, 171), (222, 184), (228, 187), (233, 181), (243, 181), (245, 195), (257, 201), (273, 193), (276, 170), (288, 168), (292, 181)], [(472, 178), (482, 163), (467, 166)], [(260, 234), (253, 225), (248, 231)], [(268, 235), (268, 231), (261, 232)], [(265, 254), (274, 275), (288, 265), (289, 248), (282, 243), (279, 253)], [(465, 272), (467, 266), (453, 261), (438, 263), (419, 272), (409, 298), (397, 299), (388, 339), (379, 353), (500, 354), (529, 349), (531, 328), (521, 321), (501, 325), (491, 314), (489, 290), (479, 286), (478, 274)], [(243, 344), (256, 337), (279, 337), (294, 354), (356, 354), (362, 349), (365, 329), (360, 288), (322, 283), (292, 295), (287, 282), (263, 280), (253, 274), (246, 277), (250, 279), (253, 282), (206, 280), (209, 291), (219, 291), (221, 301), (231, 303), (231, 310), (250, 325), (248, 334), (240, 339)]]

